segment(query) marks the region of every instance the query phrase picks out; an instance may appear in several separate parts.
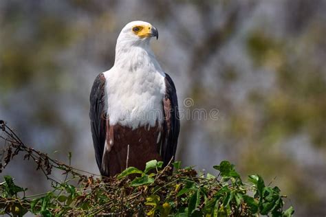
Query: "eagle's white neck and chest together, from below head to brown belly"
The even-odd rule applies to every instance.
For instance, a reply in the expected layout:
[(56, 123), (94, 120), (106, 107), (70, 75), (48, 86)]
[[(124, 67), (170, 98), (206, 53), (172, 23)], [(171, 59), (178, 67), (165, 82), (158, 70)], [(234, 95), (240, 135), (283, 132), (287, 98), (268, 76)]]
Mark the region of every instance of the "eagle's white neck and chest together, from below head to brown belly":
[(137, 128), (163, 120), (165, 74), (147, 39), (135, 43), (118, 38), (116, 60), (105, 72), (110, 125)]

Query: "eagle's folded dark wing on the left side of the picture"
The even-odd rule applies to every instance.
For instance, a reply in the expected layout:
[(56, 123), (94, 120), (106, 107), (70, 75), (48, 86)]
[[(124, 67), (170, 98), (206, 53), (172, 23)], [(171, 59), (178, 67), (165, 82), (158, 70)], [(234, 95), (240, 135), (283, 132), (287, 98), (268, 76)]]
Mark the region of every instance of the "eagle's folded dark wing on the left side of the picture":
[(91, 137), (95, 149), (96, 163), (102, 174), (102, 155), (106, 139), (106, 104), (105, 104), (105, 76), (100, 73), (91, 88), (91, 95), (89, 96), (91, 103), (89, 109), (89, 118), (91, 119)]

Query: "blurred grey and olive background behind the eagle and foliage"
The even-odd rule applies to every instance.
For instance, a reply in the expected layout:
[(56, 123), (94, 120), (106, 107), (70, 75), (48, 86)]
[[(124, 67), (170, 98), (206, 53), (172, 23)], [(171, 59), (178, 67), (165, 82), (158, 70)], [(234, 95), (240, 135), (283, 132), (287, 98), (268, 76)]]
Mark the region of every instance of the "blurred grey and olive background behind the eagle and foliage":
[[(243, 179), (278, 185), (295, 216), (325, 216), (324, 0), (0, 1), (0, 119), (26, 144), (65, 162), (72, 152), (72, 165), (98, 174), (89, 92), (134, 20), (159, 30), (153, 51), (180, 108), (219, 111), (182, 119), (177, 159), (210, 172), (227, 159)], [(30, 194), (47, 190), (32, 162), (17, 158), (4, 174)]]

